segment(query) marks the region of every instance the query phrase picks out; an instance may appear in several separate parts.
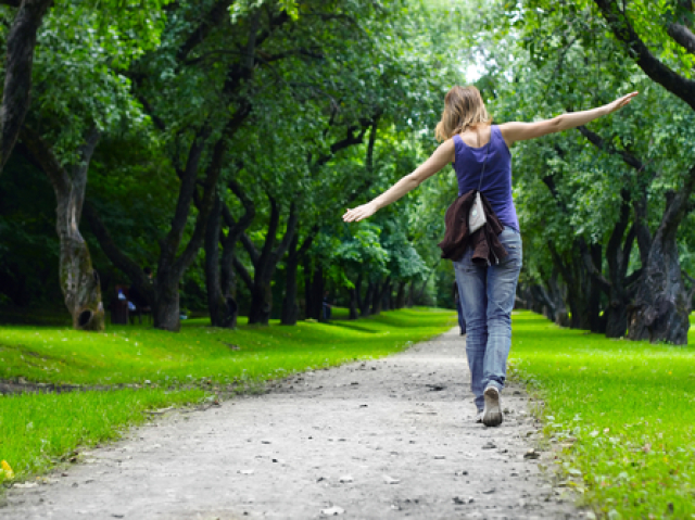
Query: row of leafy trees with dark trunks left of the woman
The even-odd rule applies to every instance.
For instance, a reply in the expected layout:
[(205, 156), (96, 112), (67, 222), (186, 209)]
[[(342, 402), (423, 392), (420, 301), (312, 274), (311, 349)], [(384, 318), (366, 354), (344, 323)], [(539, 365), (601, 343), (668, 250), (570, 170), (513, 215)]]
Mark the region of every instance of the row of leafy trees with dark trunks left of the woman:
[(16, 3), (2, 11), (7, 303), (50, 297), (51, 211), (79, 329), (103, 328), (101, 290), (109, 303), (123, 275), (166, 330), (191, 280), (213, 325), (233, 327), (244, 305), (252, 324), (274, 306), (296, 322), (299, 300), (318, 317), (327, 283), (353, 316), (378, 312), (426, 277), (435, 250), (418, 244), (415, 200), (359, 226), (340, 216), (415, 166), (460, 77), (440, 39), (451, 23), (427, 4)]

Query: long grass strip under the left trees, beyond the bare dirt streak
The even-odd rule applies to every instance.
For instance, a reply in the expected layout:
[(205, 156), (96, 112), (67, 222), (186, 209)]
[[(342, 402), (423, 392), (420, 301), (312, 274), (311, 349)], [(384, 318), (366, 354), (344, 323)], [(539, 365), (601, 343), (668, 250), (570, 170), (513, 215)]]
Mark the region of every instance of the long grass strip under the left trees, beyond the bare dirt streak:
[(242, 320), (239, 329), (227, 330), (207, 322), (186, 320), (179, 333), (144, 326), (111, 326), (103, 333), (3, 326), (0, 378), (76, 384), (149, 380), (164, 385), (274, 379), (384, 356), (453, 325), (452, 312), (438, 309), (401, 309), (357, 321), (300, 321), (294, 327), (252, 327)]

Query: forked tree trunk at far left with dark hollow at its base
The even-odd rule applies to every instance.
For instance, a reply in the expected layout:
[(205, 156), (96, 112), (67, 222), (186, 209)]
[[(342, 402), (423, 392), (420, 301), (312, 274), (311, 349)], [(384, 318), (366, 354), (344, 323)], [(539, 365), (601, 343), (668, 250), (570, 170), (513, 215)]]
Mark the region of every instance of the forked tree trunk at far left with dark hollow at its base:
[(23, 143), (47, 174), (55, 191), (60, 284), (65, 305), (73, 316), (73, 327), (77, 330), (104, 329), (99, 275), (92, 268), (89, 248), (79, 232), (87, 172), (99, 137), (96, 127), (89, 130), (85, 144), (78, 149), (79, 164), (64, 168), (38, 132), (26, 127), (21, 132)]

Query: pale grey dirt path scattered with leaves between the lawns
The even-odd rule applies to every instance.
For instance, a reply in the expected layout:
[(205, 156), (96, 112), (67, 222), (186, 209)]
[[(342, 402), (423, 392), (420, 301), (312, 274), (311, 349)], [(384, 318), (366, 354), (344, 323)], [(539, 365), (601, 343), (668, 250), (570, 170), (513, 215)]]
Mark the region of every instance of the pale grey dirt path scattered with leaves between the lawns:
[(11, 490), (0, 517), (583, 517), (545, 483), (538, 460), (523, 458), (534, 428), (519, 390), (503, 393), (511, 413), (486, 429), (473, 422), (468, 384), (464, 342), (452, 330), (386, 359), (172, 414), (87, 454), (51, 484)]

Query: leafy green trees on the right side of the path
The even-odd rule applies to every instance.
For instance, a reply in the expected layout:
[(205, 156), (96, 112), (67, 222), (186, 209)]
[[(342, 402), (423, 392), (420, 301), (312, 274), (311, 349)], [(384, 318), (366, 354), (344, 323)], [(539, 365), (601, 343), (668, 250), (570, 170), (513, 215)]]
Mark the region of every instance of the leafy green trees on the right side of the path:
[(508, 33), (490, 35), (497, 48), (486, 55), (495, 64), (485, 81), (502, 118), (641, 91), (619, 115), (517, 150), (521, 299), (561, 325), (686, 343), (695, 289), (693, 3), (532, 0), (496, 9)]

